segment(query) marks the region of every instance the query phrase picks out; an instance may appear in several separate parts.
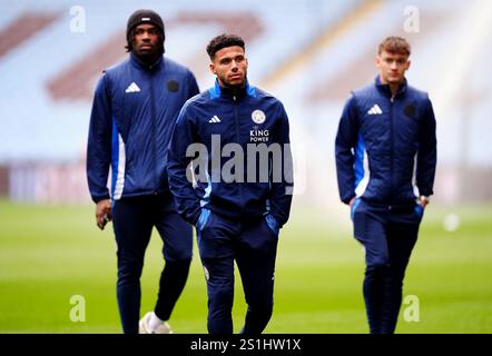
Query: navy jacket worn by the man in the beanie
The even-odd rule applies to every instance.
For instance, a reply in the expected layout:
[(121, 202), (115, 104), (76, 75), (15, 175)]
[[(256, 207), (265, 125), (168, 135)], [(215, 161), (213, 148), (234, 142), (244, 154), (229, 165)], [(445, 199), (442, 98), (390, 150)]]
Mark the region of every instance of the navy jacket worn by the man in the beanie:
[(194, 75), (165, 57), (148, 66), (130, 53), (105, 71), (94, 98), (87, 146), (94, 201), (169, 189), (166, 151), (173, 127), (183, 105), (198, 92)]

